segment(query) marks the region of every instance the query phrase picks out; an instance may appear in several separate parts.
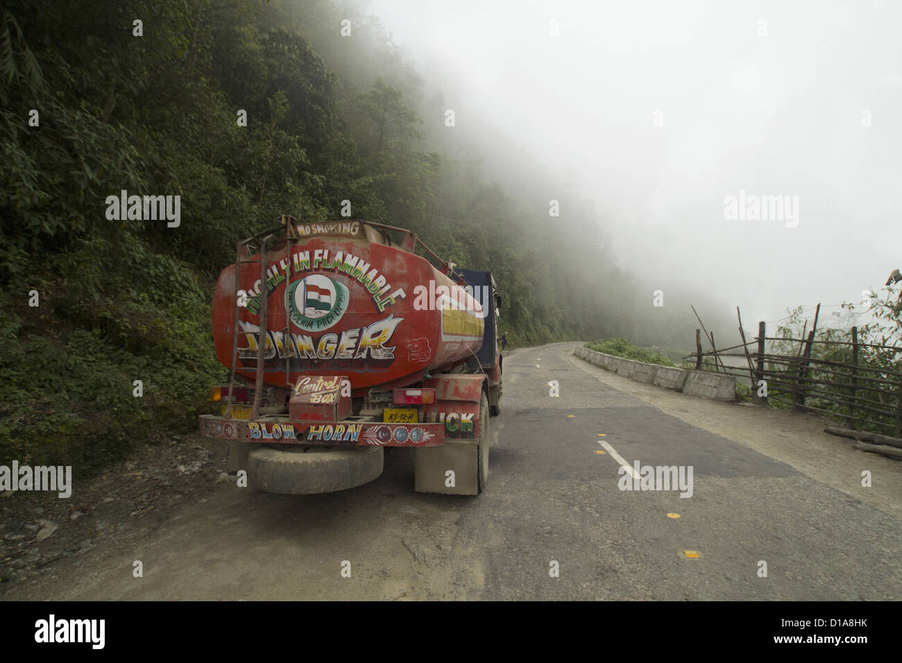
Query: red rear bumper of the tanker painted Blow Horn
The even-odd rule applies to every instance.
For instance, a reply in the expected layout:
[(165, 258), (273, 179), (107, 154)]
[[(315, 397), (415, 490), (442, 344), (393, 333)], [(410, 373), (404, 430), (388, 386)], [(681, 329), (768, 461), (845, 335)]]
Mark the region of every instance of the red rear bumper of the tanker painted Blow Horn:
[(382, 423), (344, 421), (292, 421), (281, 417), (253, 420), (198, 417), (201, 435), (237, 442), (305, 444), (346, 447), (439, 447), (445, 444), (444, 423)]

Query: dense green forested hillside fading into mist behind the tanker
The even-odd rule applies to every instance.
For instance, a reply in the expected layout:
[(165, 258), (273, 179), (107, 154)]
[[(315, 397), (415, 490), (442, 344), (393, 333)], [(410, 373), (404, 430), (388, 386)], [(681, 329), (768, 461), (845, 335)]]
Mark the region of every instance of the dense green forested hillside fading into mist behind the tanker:
[[(224, 374), (209, 302), (235, 242), (281, 214), (338, 218), (343, 200), (492, 269), (515, 344), (691, 342), (684, 310), (652, 308), (652, 289), (612, 266), (591, 209), (512, 151), (516, 167), (490, 171), (445, 107), (353, 6), (7, 3), (0, 458), (84, 468), (195, 428)], [(108, 219), (123, 189), (180, 195), (179, 226)], [(550, 218), (549, 198), (573, 202)]]

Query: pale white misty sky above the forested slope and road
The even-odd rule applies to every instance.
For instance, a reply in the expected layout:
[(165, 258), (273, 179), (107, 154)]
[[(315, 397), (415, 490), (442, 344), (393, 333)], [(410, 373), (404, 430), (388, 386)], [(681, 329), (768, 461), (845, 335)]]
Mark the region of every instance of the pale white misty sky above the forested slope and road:
[[(575, 179), (665, 305), (685, 279), (753, 327), (902, 268), (902, 3), (364, 6), (449, 107)], [(725, 220), (740, 189), (797, 196), (797, 226)]]

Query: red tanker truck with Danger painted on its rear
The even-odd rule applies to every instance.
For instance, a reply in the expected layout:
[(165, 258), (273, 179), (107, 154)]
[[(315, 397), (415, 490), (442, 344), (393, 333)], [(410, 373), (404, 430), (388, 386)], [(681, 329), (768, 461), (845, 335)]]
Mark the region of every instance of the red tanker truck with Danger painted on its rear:
[(200, 432), (269, 493), (373, 481), (386, 447), (413, 449), (416, 491), (482, 493), (500, 307), (491, 272), (441, 260), (408, 230), (282, 216), (237, 244), (216, 283), (229, 381), (212, 388), (218, 413), (199, 417)]

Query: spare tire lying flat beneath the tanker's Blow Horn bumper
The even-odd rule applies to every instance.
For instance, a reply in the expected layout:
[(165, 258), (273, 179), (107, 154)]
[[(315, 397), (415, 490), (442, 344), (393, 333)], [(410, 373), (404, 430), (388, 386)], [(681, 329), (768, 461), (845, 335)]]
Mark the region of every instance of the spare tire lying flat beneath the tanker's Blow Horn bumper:
[(382, 474), (383, 447), (257, 447), (248, 456), (247, 483), (266, 493), (334, 493)]

